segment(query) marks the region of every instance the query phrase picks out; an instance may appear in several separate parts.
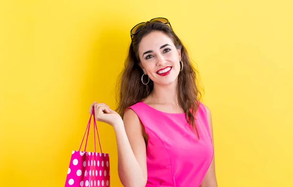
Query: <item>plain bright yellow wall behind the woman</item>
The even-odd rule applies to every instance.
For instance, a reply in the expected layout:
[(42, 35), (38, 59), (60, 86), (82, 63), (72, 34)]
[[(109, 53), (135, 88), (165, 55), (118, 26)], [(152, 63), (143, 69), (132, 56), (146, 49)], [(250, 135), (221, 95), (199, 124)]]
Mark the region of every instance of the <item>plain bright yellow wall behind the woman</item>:
[[(293, 186), (292, 7), (290, 0), (2, 0), (0, 186), (64, 185), (89, 105), (115, 107), (129, 29), (154, 17), (171, 21), (198, 64), (219, 187)], [(98, 127), (112, 187), (121, 187), (114, 131)]]

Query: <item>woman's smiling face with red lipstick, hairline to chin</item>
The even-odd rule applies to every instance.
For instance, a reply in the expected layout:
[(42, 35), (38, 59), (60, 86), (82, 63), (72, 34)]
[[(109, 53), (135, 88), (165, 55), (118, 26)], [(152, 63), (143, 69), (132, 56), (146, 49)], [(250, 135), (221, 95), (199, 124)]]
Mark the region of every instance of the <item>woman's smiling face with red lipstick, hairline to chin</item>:
[(153, 31), (139, 44), (140, 66), (154, 84), (167, 85), (177, 81), (181, 50), (163, 32)]

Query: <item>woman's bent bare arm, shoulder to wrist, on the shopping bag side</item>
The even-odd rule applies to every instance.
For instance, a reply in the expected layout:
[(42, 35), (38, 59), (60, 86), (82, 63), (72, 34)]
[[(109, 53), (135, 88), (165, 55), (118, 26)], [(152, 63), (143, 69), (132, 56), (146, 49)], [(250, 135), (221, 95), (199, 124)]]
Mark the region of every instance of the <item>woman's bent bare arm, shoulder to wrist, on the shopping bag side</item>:
[(144, 128), (136, 113), (128, 109), (123, 124), (114, 125), (118, 147), (118, 173), (124, 187), (145, 187), (146, 143)]

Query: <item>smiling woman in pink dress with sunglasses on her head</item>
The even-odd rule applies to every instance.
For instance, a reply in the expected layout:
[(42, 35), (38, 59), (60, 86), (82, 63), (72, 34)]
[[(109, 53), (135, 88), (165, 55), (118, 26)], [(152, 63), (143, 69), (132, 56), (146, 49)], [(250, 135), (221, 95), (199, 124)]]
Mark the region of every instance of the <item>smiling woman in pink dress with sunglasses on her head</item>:
[(199, 102), (196, 73), (169, 21), (130, 31), (131, 44), (115, 112), (90, 106), (112, 125), (125, 187), (217, 187), (209, 108)]

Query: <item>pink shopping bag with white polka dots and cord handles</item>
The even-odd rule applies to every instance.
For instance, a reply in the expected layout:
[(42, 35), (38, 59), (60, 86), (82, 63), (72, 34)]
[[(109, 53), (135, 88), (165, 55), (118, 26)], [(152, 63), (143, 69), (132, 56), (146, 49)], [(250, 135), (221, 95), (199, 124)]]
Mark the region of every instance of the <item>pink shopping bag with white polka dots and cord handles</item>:
[[(85, 150), (92, 116), (94, 116), (95, 152), (86, 152)], [(84, 138), (79, 150), (72, 151), (65, 187), (110, 187), (109, 154), (102, 152), (94, 109), (90, 116), (86, 130), (87, 135), (84, 151), (81, 151)], [(101, 153), (96, 152), (95, 130), (97, 130)]]

